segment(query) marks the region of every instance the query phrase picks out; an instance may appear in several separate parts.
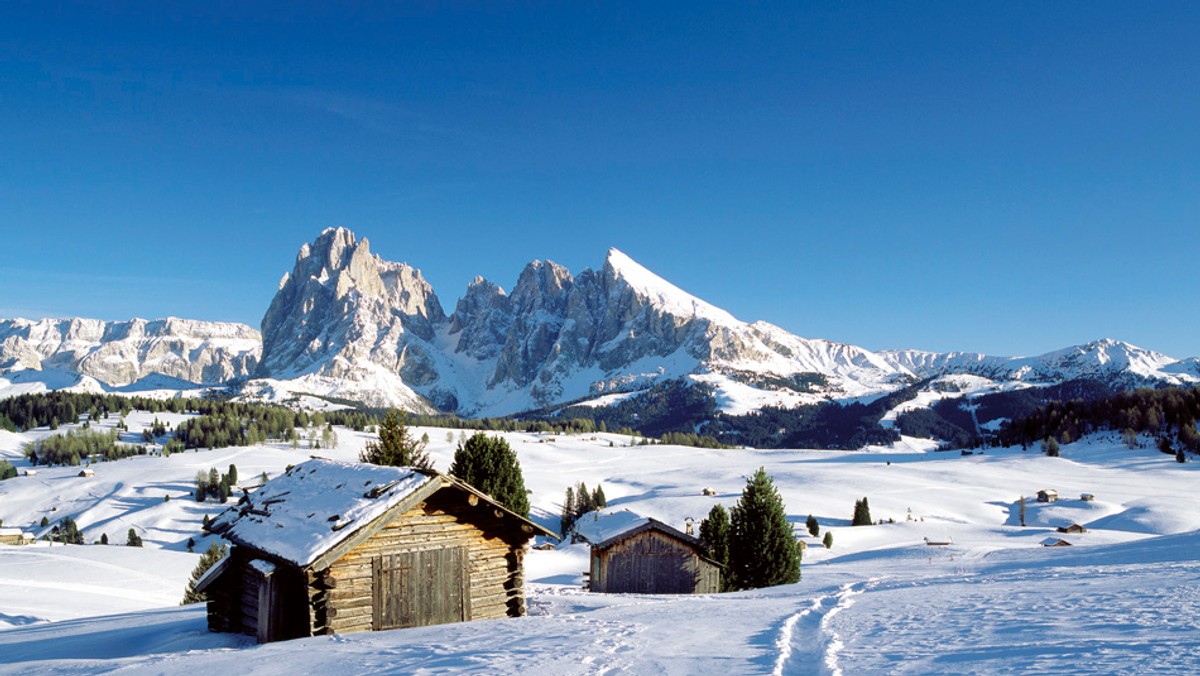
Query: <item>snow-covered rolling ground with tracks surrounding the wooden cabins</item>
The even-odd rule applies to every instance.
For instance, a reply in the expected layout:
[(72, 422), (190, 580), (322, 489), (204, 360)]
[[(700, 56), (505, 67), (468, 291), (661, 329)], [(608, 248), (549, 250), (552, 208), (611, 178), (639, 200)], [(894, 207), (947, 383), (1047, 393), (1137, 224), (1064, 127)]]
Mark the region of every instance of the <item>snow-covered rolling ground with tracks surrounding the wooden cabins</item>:
[[(164, 417), (160, 414), (160, 419)], [(152, 415), (131, 414), (131, 432)], [(170, 418), (174, 425), (178, 418)], [(338, 448), (260, 445), (40, 468), (0, 483), (5, 526), (71, 515), (97, 545), (0, 546), (0, 671), (197, 669), (264, 674), (863, 674), (1129, 672), (1200, 670), (1200, 495), (1196, 465), (1115, 436), (1064, 445), (1062, 457), (989, 449), (930, 453), (904, 439), (864, 451), (708, 450), (630, 447), (617, 435), (505, 433), (526, 473), (533, 518), (557, 528), (568, 485), (604, 484), (610, 507), (683, 530), (715, 503), (731, 507), (744, 477), (773, 474), (809, 544), (797, 585), (732, 594), (589, 594), (583, 545), (532, 551), (529, 616), (256, 646), (210, 634), (200, 606), (174, 606), (204, 545), (199, 524), (221, 509), (197, 503), (197, 471), (236, 463), (244, 485), (317, 454), (353, 459), (368, 435), (337, 430)], [(458, 431), (430, 436), (450, 465)], [(4, 433), (19, 447), (42, 432)], [(716, 496), (703, 496), (712, 487)], [(1062, 499), (1034, 502), (1039, 489)], [(1094, 493), (1085, 502), (1080, 493)], [(169, 501), (164, 499), (170, 495)], [(868, 497), (883, 525), (850, 527)], [(1026, 527), (1018, 501), (1027, 498)], [(803, 532), (812, 514), (833, 549)], [(1078, 522), (1081, 534), (1056, 526)], [(1070, 548), (1043, 548), (1046, 537)], [(926, 546), (924, 538), (953, 540)]]

